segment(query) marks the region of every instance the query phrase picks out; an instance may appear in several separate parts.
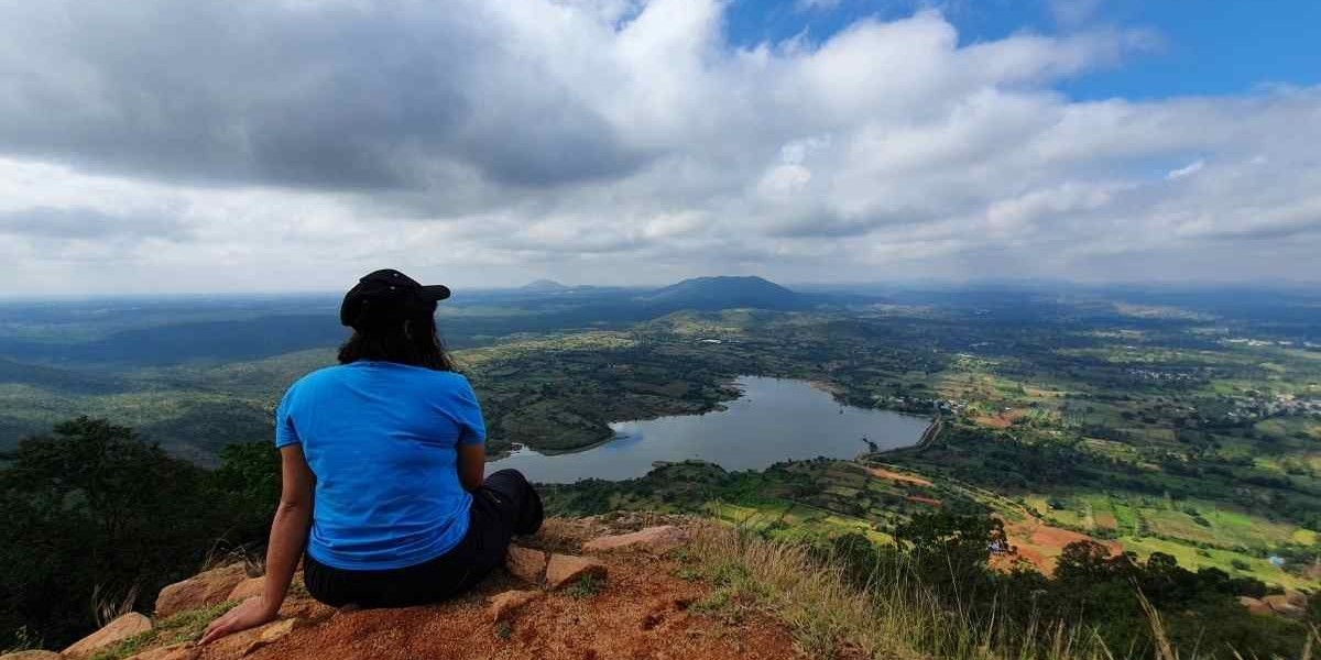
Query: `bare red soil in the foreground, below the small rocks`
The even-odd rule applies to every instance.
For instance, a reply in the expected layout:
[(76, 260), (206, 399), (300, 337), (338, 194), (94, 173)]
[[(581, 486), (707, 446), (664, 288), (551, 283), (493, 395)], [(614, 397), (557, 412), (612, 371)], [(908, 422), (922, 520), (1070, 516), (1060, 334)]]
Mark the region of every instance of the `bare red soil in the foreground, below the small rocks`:
[[(579, 529), (576, 521), (548, 523), (550, 535), (543, 533), (532, 545), (576, 552), (584, 535), (600, 532)], [(690, 605), (707, 595), (709, 587), (675, 577), (679, 565), (674, 561), (633, 552), (601, 558), (609, 565), (609, 576), (598, 594), (576, 598), (550, 593), (518, 609), (507, 628), (491, 620), (486, 598), (528, 585), (499, 572), (478, 593), (461, 599), (427, 607), (337, 612), (247, 657), (770, 660), (798, 655), (789, 630), (769, 615), (754, 612), (731, 623), (691, 611)]]

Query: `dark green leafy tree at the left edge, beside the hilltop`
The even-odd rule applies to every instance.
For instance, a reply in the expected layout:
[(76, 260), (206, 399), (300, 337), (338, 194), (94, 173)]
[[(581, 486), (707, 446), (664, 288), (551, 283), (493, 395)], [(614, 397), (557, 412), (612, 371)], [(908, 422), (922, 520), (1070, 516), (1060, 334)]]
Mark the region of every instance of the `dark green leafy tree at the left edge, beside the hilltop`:
[[(92, 594), (156, 591), (225, 527), (209, 474), (104, 420), (58, 424), (0, 455), (0, 631), (61, 644), (95, 626)], [(0, 639), (0, 648), (12, 643)]]

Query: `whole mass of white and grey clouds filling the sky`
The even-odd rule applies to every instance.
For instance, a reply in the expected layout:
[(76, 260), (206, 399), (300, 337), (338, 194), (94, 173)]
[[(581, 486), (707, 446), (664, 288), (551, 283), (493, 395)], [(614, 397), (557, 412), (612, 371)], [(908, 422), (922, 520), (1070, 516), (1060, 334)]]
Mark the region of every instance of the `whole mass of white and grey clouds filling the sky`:
[(5, 284), (1308, 275), (1321, 88), (1078, 102), (1152, 34), (724, 8), (0, 1)]

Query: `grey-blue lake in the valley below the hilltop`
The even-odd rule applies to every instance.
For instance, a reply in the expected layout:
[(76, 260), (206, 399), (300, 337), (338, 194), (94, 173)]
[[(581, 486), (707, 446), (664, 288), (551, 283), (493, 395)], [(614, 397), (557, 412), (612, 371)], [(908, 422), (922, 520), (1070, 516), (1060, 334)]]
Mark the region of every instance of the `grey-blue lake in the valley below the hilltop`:
[(841, 407), (803, 380), (744, 376), (744, 395), (728, 409), (612, 424), (617, 437), (561, 454), (520, 449), (487, 463), (487, 473), (513, 467), (532, 482), (633, 479), (657, 461), (700, 459), (725, 470), (762, 470), (779, 461), (853, 458), (868, 450), (917, 444), (929, 420), (890, 411)]

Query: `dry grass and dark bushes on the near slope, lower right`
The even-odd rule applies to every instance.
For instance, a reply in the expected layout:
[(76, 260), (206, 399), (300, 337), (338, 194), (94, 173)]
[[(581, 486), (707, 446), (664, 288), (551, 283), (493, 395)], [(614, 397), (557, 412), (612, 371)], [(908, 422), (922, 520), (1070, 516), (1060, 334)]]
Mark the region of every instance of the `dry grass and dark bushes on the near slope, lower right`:
[(820, 657), (1306, 657), (1321, 642), (1305, 623), (1248, 614), (1234, 594), (1260, 585), (1222, 572), (1078, 544), (1053, 577), (1004, 573), (988, 568), (988, 544), (1001, 541), (991, 519), (935, 513), (890, 545), (707, 527), (680, 558), (691, 566), (683, 576), (716, 586), (695, 607), (721, 616), (769, 607)]

